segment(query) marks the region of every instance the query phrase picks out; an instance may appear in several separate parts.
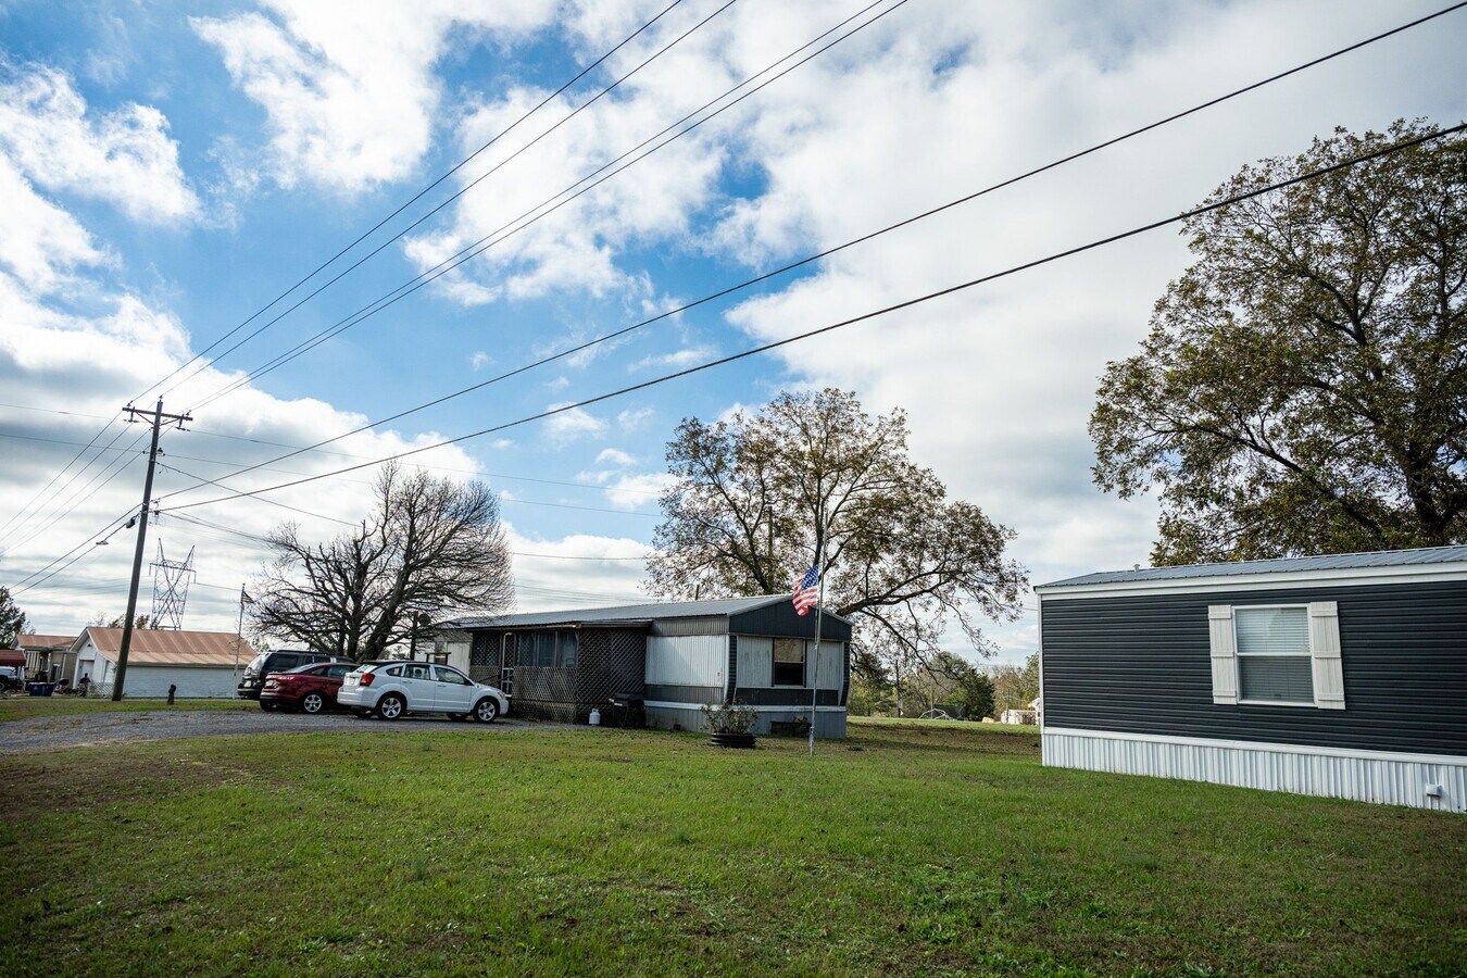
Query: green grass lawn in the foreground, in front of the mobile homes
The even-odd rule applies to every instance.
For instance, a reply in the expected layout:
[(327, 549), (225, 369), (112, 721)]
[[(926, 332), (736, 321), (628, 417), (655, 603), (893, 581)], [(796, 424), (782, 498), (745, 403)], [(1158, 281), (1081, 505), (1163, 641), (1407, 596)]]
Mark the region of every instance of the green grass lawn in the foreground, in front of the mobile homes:
[(0, 974), (1420, 974), (1458, 815), (1039, 765), (1033, 733), (170, 740), (0, 758)]

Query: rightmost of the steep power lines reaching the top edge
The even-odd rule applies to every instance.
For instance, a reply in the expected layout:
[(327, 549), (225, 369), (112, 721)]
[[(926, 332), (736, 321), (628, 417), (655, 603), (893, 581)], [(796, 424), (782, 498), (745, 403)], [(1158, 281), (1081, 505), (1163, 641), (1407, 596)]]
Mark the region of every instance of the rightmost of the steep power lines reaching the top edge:
[[(239, 387), (245, 386), (246, 383), (249, 383), (252, 380), (258, 380), (260, 377), (263, 377), (263, 375), (274, 371), (276, 368), (288, 364), (289, 361), (292, 361), (292, 359), (295, 359), (295, 358), (298, 358), (298, 356), (301, 356), (304, 353), (308, 353), (310, 350), (315, 349), (317, 346), (320, 346), (326, 340), (329, 340), (329, 339), (332, 339), (334, 336), (339, 336), (340, 333), (345, 333), (346, 330), (352, 328), (354, 326), (358, 326), (359, 323), (364, 323), (365, 320), (377, 315), (378, 312), (381, 312), (383, 309), (386, 309), (386, 308), (389, 308), (392, 305), (396, 305), (399, 301), (402, 301), (402, 299), (408, 298), (409, 295), (418, 292), (424, 286), (436, 282), (437, 279), (443, 277), (449, 271), (453, 271), (455, 268), (458, 268), (459, 265), (468, 262), (469, 260), (477, 258), (478, 255), (484, 254), (486, 251), (489, 251), (494, 245), (497, 245), (497, 243), (509, 239), (511, 236), (519, 233), (521, 230), (524, 230), (525, 227), (530, 227), (531, 224), (540, 221), (541, 218), (549, 217), (550, 214), (553, 214), (555, 211), (560, 210), (566, 204), (569, 204), (569, 202), (575, 201), (577, 198), (579, 198), (582, 194), (587, 194), (587, 192), (596, 189), (597, 186), (600, 186), (601, 183), (610, 180), (612, 177), (615, 177), (615, 176), (618, 176), (621, 173), (625, 173), (628, 169), (631, 169), (637, 163), (641, 163), (643, 160), (645, 160), (651, 154), (657, 152), (663, 147), (669, 145), (670, 142), (675, 142), (676, 139), (681, 139), (682, 136), (688, 135), (689, 132), (692, 132), (694, 129), (697, 129), (703, 123), (710, 122), (711, 119), (717, 117), (723, 111), (726, 111), (726, 110), (732, 109), (734, 106), (739, 104), (741, 101), (744, 101), (750, 95), (754, 95), (756, 92), (761, 91), (764, 87), (767, 87), (767, 85), (779, 81), (780, 78), (783, 78), (789, 72), (795, 70), (801, 65), (805, 65), (807, 62), (813, 60), (814, 57), (819, 57), (824, 51), (827, 51), (832, 47), (835, 47), (836, 44), (841, 44), (842, 41), (845, 41), (846, 38), (852, 37), (858, 31), (863, 31), (864, 28), (870, 26), (871, 23), (876, 23), (877, 21), (880, 21), (882, 18), (885, 18), (888, 13), (892, 13), (893, 10), (896, 10), (898, 7), (901, 7), (902, 4), (907, 3), (907, 0), (895, 0), (895, 3), (890, 7), (888, 7), (886, 10), (880, 12), (879, 15), (873, 16), (870, 21), (866, 21), (866, 22), (857, 25), (855, 28), (852, 28), (846, 34), (835, 38), (833, 41), (830, 41), (829, 44), (826, 44), (824, 47), (822, 47), (820, 50), (813, 51), (811, 54), (805, 56), (800, 62), (795, 62), (794, 65), (788, 66), (786, 69), (783, 69), (782, 72), (779, 72), (773, 78), (769, 78), (769, 79), (760, 82), (758, 85), (756, 85), (750, 91), (744, 92), (742, 95), (739, 95), (738, 98), (735, 98), (729, 104), (726, 104), (726, 106), (714, 110), (713, 113), (704, 116), (703, 119), (694, 122), (687, 129), (682, 129), (681, 132), (673, 133), (672, 136), (669, 136), (663, 142), (651, 147), (650, 150), (647, 150), (641, 155), (635, 157), (634, 160), (628, 161), (625, 166), (613, 170), (612, 173), (607, 173), (606, 176), (594, 180), (593, 183), (588, 183), (587, 186), (582, 186), (579, 191), (575, 189), (575, 188), (581, 186), (582, 183), (585, 183), (587, 180), (591, 180), (597, 174), (600, 174), (600, 173), (606, 172), (607, 169), (616, 166), (618, 163), (621, 163), (622, 160), (625, 160), (631, 154), (634, 154), (638, 150), (641, 150), (643, 147), (645, 147), (648, 142), (653, 142), (659, 136), (670, 132), (672, 129), (676, 129), (678, 126), (681, 126), (682, 123), (688, 122), (689, 119), (692, 119), (698, 113), (701, 113), (701, 111), (707, 110), (709, 107), (717, 104), (723, 98), (728, 98), (731, 94), (736, 92), (744, 85), (748, 85), (753, 79), (758, 78), (760, 75), (764, 75), (764, 73), (770, 72), (778, 65), (789, 60), (791, 57), (794, 57), (800, 51), (808, 48), (810, 45), (813, 45), (816, 43), (819, 43), (822, 38), (829, 37), (833, 31), (841, 29), (841, 26), (844, 26), (845, 23), (849, 23), (852, 19), (861, 16), (863, 13), (866, 13), (867, 10), (870, 10), (871, 7), (876, 7), (880, 3), (888, 3), (888, 1), (889, 0), (874, 0), (871, 4), (868, 4), (867, 7), (858, 10), (857, 13), (851, 15), (849, 18), (846, 18), (845, 21), (842, 21), (841, 23), (838, 23), (836, 26), (830, 28), (829, 31), (826, 31), (820, 37), (814, 38), (813, 41), (807, 41), (805, 44), (802, 44), (801, 47), (795, 48), (794, 51), (791, 51), (785, 57), (776, 60), (769, 67), (764, 67), (763, 70), (751, 75), (750, 78), (744, 79), (742, 82), (739, 82), (734, 88), (731, 88), (726, 92), (723, 92), (722, 95), (719, 95), (717, 98), (713, 98), (711, 101), (704, 103), (700, 109), (695, 109), (694, 111), (688, 113), (687, 116), (684, 116), (678, 122), (672, 123), (670, 126), (662, 129), (660, 132), (654, 133), (653, 136), (648, 136), (647, 139), (644, 139), (638, 145), (632, 147), (631, 150), (628, 150), (622, 155), (616, 157), (610, 163), (606, 163), (600, 169), (597, 169), (597, 170), (594, 170), (594, 172), (582, 176), (579, 180), (577, 180), (575, 183), (572, 183), (566, 189), (560, 191), (559, 194), (552, 195), (550, 198), (547, 198), (546, 201), (541, 201), (535, 207), (531, 207), (528, 211), (524, 211), (519, 217), (515, 217), (513, 220), (502, 224), (499, 229), (490, 232), (484, 238), (480, 238), (478, 240), (475, 240), (474, 243), (468, 245), (467, 248), (464, 248), (458, 254), (455, 254), (455, 255), (452, 255), (449, 258), (445, 258), (443, 261), (440, 261), (437, 265), (434, 265), (428, 271), (422, 271), (422, 273), (414, 276), (412, 279), (408, 279), (405, 283), (402, 283), (400, 286), (398, 286), (392, 292), (389, 292), (384, 296), (376, 299), (374, 302), (370, 302), (368, 305), (362, 306), (356, 312), (352, 312), (351, 315), (348, 315), (343, 320), (337, 320), (334, 324), (332, 324), (332, 326), (326, 327), (324, 330), (315, 333), (310, 339), (298, 343), (296, 346), (290, 348), (285, 353), (277, 355), (274, 359), (267, 361), (266, 364), (261, 364), (260, 367), (255, 367), (254, 369), (251, 369), (251, 371), (245, 372), (244, 375), (235, 378), (233, 381), (224, 384), (222, 389), (216, 390), (214, 393), (208, 394), (201, 402), (198, 402), (198, 408), (202, 408), (205, 405), (213, 403), (214, 400), (219, 400), (220, 397), (223, 397), (223, 396), (226, 396), (226, 394), (238, 390)], [(566, 195), (569, 195), (569, 196), (566, 196)], [(565, 199), (562, 199), (559, 204), (555, 204), (555, 201), (557, 198), (562, 198), (562, 196)], [(541, 208), (549, 208), (549, 210), (543, 210), (541, 211)], [(541, 213), (535, 214), (535, 211), (541, 211)], [(519, 223), (519, 221), (524, 221), (524, 223)], [(496, 235), (497, 235), (497, 238), (496, 238)], [(493, 240), (490, 240), (490, 239), (493, 239)], [(398, 293), (400, 293), (400, 295), (398, 295)]]

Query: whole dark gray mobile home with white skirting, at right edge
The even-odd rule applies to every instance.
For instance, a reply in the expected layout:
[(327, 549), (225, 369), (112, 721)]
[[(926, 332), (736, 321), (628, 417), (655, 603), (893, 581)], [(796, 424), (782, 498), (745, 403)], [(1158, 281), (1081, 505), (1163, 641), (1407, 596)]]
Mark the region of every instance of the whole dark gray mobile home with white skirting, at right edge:
[(1467, 545), (1036, 592), (1046, 765), (1467, 811)]

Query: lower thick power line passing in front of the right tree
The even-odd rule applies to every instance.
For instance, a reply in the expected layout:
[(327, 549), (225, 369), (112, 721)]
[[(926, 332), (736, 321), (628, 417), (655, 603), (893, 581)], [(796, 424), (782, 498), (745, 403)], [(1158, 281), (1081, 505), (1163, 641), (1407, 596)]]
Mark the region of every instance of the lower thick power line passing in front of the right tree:
[(901, 309), (910, 309), (910, 308), (921, 305), (924, 302), (932, 302), (933, 299), (940, 299), (943, 296), (949, 296), (949, 295), (954, 295), (956, 292), (964, 292), (967, 289), (973, 289), (976, 286), (986, 284), (989, 282), (996, 282), (999, 279), (1005, 279), (1008, 276), (1018, 274), (1021, 271), (1028, 271), (1031, 268), (1039, 268), (1042, 265), (1047, 265), (1047, 264), (1052, 264), (1055, 261), (1061, 261), (1064, 258), (1071, 258), (1074, 255), (1078, 255), (1078, 254), (1083, 254), (1083, 252), (1087, 252), (1087, 251), (1093, 251), (1096, 248), (1103, 248), (1106, 245), (1113, 245), (1113, 243), (1125, 240), (1128, 238), (1135, 238), (1138, 235), (1144, 235), (1147, 232), (1153, 232), (1153, 230), (1157, 230), (1160, 227), (1166, 227), (1169, 224), (1177, 224), (1177, 223), (1190, 220), (1193, 217), (1200, 217), (1201, 214), (1207, 214), (1207, 213), (1221, 210), (1223, 207), (1231, 207), (1232, 204), (1248, 201), (1248, 199), (1253, 199), (1256, 196), (1262, 196), (1265, 194), (1272, 194), (1275, 191), (1281, 191), (1284, 188), (1294, 186), (1294, 185), (1303, 183), (1306, 180), (1314, 180), (1314, 179), (1319, 179), (1319, 177), (1326, 176), (1329, 173), (1335, 173), (1335, 172), (1339, 172), (1339, 170), (1344, 170), (1344, 169), (1348, 169), (1348, 167), (1353, 167), (1353, 166), (1358, 166), (1358, 164), (1367, 163), (1370, 160), (1378, 160), (1380, 157), (1386, 157), (1386, 155), (1391, 155), (1394, 152), (1401, 152), (1402, 150), (1410, 150), (1411, 147), (1417, 147), (1417, 145), (1422, 145), (1424, 142), (1430, 142), (1433, 139), (1441, 139), (1442, 136), (1449, 136), (1449, 135), (1463, 132), (1464, 129), (1467, 129), (1467, 123), (1460, 123), (1460, 125), (1451, 126), (1448, 129), (1438, 129), (1436, 132), (1430, 132), (1430, 133), (1426, 133), (1426, 135), (1422, 135), (1422, 136), (1413, 136), (1411, 139), (1404, 139), (1404, 141), (1395, 142), (1395, 144), (1392, 144), (1389, 147), (1382, 147), (1382, 148), (1375, 150), (1372, 152), (1367, 152), (1367, 154), (1363, 154), (1363, 155), (1358, 155), (1358, 157), (1353, 157), (1350, 160), (1342, 160), (1339, 163), (1331, 164), (1328, 167), (1322, 167), (1319, 170), (1310, 170), (1309, 173), (1303, 173), (1303, 174), (1289, 177), (1287, 180), (1279, 180), (1279, 182), (1270, 183), (1267, 186), (1262, 186), (1262, 188), (1256, 188), (1256, 189), (1251, 189), (1251, 191), (1241, 192), (1241, 194), (1235, 194), (1232, 196), (1215, 201), (1212, 204), (1203, 204), (1201, 207), (1196, 207), (1193, 210), (1182, 211), (1181, 214), (1177, 214), (1177, 216), (1172, 216), (1172, 217), (1163, 217), (1160, 220), (1150, 221), (1147, 224), (1141, 224), (1138, 227), (1133, 227), (1130, 230), (1124, 230), (1124, 232), (1119, 232), (1119, 233), (1115, 233), (1115, 235), (1109, 235), (1106, 238), (1100, 238), (1100, 239), (1091, 240), (1091, 242), (1084, 243), (1084, 245), (1077, 245), (1074, 248), (1067, 248), (1065, 251), (1049, 254), (1049, 255), (1046, 255), (1043, 258), (1036, 258), (1033, 261), (1027, 261), (1027, 262), (1022, 262), (1022, 264), (1018, 264), (1018, 265), (1011, 265), (1008, 268), (1003, 268), (1002, 271), (995, 271), (995, 273), (990, 273), (990, 274), (986, 274), (986, 276), (980, 276), (977, 279), (970, 279), (968, 282), (961, 282), (958, 284), (948, 286), (945, 289), (937, 289), (934, 292), (927, 292), (924, 295), (920, 295), (920, 296), (915, 296), (915, 298), (911, 298), (911, 299), (905, 299), (902, 302), (896, 302), (896, 304), (892, 304), (892, 305), (888, 305), (888, 306), (883, 306), (883, 308), (879, 308), (879, 309), (873, 309), (870, 312), (863, 312), (861, 315), (855, 315), (855, 317), (851, 317), (851, 318), (846, 318), (846, 320), (841, 320), (841, 321), (832, 323), (829, 326), (822, 326), (822, 327), (817, 327), (817, 328), (813, 328), (813, 330), (807, 330), (804, 333), (797, 333), (797, 334), (788, 336), (788, 337), (785, 337), (782, 340), (773, 340), (770, 343), (763, 343), (760, 346), (754, 346), (754, 348), (742, 350), (739, 353), (732, 353), (729, 356), (720, 356), (717, 359), (706, 361), (706, 362), (698, 364), (695, 367), (688, 367), (685, 369), (673, 371), (670, 374), (663, 374), (662, 377), (654, 377), (651, 380), (645, 380), (645, 381), (641, 381), (638, 384), (631, 384), (628, 387), (621, 387), (621, 389), (607, 391), (604, 394), (597, 394), (594, 397), (587, 397), (587, 399), (578, 400), (575, 403), (562, 405), (559, 408), (552, 408), (549, 411), (541, 411), (538, 413), (528, 415), (528, 416), (519, 418), (516, 421), (506, 421), (503, 424), (491, 425), (489, 428), (481, 428), (478, 431), (471, 431), (468, 434), (462, 434), (462, 435), (458, 435), (455, 438), (446, 438), (443, 441), (436, 441), (433, 444), (425, 444), (425, 446), (421, 446), (421, 447), (417, 447), (417, 449), (411, 449), (408, 452), (400, 452), (400, 453), (396, 453), (396, 455), (392, 455), (392, 456), (386, 456), (383, 459), (377, 459), (376, 462), (367, 462), (367, 463), (361, 463), (361, 465), (346, 466), (346, 468), (342, 468), (342, 469), (336, 469), (334, 472), (324, 472), (321, 475), (312, 475), (312, 477), (308, 477), (308, 478), (295, 479), (292, 482), (282, 482), (282, 484), (277, 484), (277, 485), (270, 485), (270, 487), (264, 487), (264, 488), (258, 488), (258, 490), (238, 491), (233, 496), (222, 496), (222, 497), (217, 497), (217, 499), (198, 500), (198, 501), (192, 501), (192, 503), (179, 503), (178, 506), (175, 506), (172, 509), (194, 509), (194, 507), (198, 507), (198, 506), (211, 506), (214, 503), (224, 503), (224, 501), (230, 501), (230, 500), (235, 500), (235, 499), (254, 497), (254, 496), (258, 496), (261, 493), (273, 493), (273, 491), (282, 490), (282, 488), (292, 488), (295, 485), (304, 485), (307, 482), (314, 482), (314, 481), (321, 479), (321, 478), (330, 478), (333, 475), (340, 475), (343, 472), (354, 472), (356, 469), (364, 469), (364, 468), (368, 468), (371, 465), (381, 465), (383, 462), (396, 460), (396, 459), (405, 459), (405, 457), (418, 455), (421, 452), (431, 452), (433, 449), (442, 449), (442, 447), (449, 446), (449, 444), (458, 444), (459, 441), (468, 441), (469, 438), (478, 438), (478, 437), (483, 437), (486, 434), (494, 434), (494, 433), (499, 433), (499, 431), (506, 431), (509, 428), (516, 428), (519, 425), (530, 424), (531, 421), (541, 421), (544, 418), (552, 418), (555, 415), (565, 413), (566, 411), (575, 411), (577, 408), (585, 408), (585, 406), (590, 406), (590, 405), (600, 403), (603, 400), (612, 400), (613, 397), (622, 397), (625, 394), (629, 394), (629, 393), (634, 393), (634, 391), (638, 391), (638, 390), (645, 390), (648, 387), (657, 387), (657, 386), (669, 383), (672, 380), (678, 380), (678, 378), (682, 378), (682, 377), (689, 377), (692, 374), (700, 374), (703, 371), (713, 369), (716, 367), (725, 367), (728, 364), (734, 364), (736, 361), (742, 361), (742, 359), (747, 359), (750, 356), (757, 356), (760, 353), (767, 353), (770, 350), (775, 350), (775, 349), (779, 349), (779, 348), (783, 348), (783, 346), (789, 346), (792, 343), (798, 343), (801, 340), (807, 340), (807, 339), (811, 339), (811, 337), (816, 337), (816, 336), (823, 336), (826, 333), (832, 333), (835, 330), (841, 330), (841, 328), (845, 328), (848, 326), (854, 326), (857, 323), (866, 323), (868, 320), (874, 320), (874, 318), (879, 318), (879, 317), (883, 317), (883, 315), (889, 315), (889, 314), (898, 312)]

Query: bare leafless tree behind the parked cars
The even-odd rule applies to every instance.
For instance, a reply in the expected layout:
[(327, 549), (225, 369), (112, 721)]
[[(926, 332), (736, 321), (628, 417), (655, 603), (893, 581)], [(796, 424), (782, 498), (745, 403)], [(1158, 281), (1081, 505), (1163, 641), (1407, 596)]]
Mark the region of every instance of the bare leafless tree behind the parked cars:
[(499, 500), (483, 482), (389, 465), (358, 529), (312, 544), (283, 523), (268, 543), (274, 560), (252, 584), (252, 630), (356, 661), (421, 636), (447, 610), (513, 603)]

